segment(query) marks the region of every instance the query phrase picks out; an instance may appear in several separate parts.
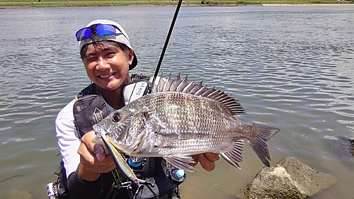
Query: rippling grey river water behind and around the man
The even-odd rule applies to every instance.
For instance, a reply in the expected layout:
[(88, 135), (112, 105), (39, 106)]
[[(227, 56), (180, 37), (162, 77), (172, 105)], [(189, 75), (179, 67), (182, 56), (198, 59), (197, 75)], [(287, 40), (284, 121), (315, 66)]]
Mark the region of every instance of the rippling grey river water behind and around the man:
[[(57, 113), (90, 83), (74, 33), (94, 19), (120, 23), (154, 74), (173, 7), (0, 10), (0, 198), (47, 198), (60, 157)], [(238, 98), (247, 115), (279, 127), (272, 164), (296, 157), (337, 182), (313, 198), (353, 198), (354, 6), (182, 7), (161, 72), (203, 80)], [(331, 140), (332, 139), (332, 140)], [(246, 144), (241, 170), (217, 161), (189, 174), (183, 198), (236, 198), (263, 167)]]

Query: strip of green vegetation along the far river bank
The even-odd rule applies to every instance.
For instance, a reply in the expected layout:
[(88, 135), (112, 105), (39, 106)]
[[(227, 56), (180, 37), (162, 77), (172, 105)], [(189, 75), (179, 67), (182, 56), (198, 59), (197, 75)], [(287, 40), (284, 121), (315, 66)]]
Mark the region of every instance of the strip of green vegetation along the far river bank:
[[(353, 4), (354, 0), (183, 0), (183, 6), (239, 4)], [(178, 0), (0, 0), (6, 6), (176, 6)]]

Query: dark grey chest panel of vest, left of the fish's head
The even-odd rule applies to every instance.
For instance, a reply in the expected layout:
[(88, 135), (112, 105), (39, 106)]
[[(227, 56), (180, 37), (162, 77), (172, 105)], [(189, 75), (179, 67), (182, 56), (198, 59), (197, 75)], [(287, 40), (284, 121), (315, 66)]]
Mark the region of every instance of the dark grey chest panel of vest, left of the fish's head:
[(81, 138), (86, 132), (93, 130), (93, 125), (107, 117), (108, 108), (100, 96), (87, 95), (74, 103), (73, 113), (76, 130)]

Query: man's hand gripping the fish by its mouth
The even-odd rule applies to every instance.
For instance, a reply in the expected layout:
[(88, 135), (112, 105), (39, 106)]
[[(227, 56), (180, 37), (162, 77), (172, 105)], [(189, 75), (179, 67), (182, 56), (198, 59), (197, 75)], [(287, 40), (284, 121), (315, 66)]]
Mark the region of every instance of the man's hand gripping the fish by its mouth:
[(112, 156), (105, 156), (100, 144), (92, 142), (94, 131), (81, 137), (79, 150), (80, 164), (78, 175), (86, 181), (96, 181), (101, 173), (108, 173), (115, 168)]

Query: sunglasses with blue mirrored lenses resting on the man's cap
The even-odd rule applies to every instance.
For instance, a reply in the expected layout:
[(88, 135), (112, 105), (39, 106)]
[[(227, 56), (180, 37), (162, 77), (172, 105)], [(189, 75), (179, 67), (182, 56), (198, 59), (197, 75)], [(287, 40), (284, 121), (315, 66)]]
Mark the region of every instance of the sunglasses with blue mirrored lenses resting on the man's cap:
[[(103, 37), (105, 35), (115, 35), (117, 33), (122, 33), (122, 31), (115, 25), (111, 24), (97, 24), (95, 27), (85, 27), (77, 30), (76, 32), (76, 40), (82, 41), (91, 38), (91, 32), (95, 30), (97, 35)], [(124, 35), (125, 36), (125, 35)], [(127, 37), (125, 37), (127, 38)]]

